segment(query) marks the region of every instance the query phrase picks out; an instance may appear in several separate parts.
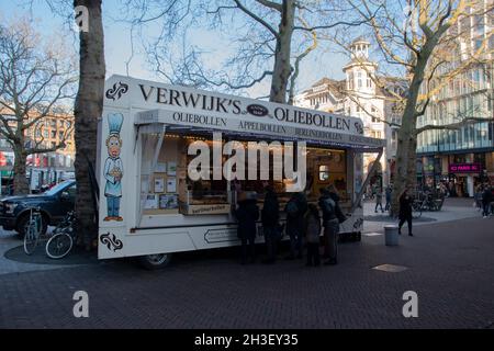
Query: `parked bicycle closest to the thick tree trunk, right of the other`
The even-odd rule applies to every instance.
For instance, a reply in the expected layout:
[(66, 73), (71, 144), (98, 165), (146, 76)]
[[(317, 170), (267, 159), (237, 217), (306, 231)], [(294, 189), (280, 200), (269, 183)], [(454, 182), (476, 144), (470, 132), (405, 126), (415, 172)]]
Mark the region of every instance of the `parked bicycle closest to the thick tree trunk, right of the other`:
[(52, 237), (46, 242), (46, 254), (50, 259), (61, 259), (70, 252), (76, 240), (75, 224), (76, 216), (74, 211), (70, 211), (54, 229)]

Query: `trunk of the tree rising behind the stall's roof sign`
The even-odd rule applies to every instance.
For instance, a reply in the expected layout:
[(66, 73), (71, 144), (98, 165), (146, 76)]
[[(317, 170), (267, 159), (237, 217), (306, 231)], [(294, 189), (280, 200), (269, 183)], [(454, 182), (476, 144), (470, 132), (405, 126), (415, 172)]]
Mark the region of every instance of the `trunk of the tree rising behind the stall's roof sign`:
[(274, 52), (274, 69), (271, 80), (271, 92), (269, 101), (285, 103), (287, 87), (289, 83), (292, 66), (290, 64), (291, 44), (295, 18), (293, 0), (283, 0), (279, 36)]

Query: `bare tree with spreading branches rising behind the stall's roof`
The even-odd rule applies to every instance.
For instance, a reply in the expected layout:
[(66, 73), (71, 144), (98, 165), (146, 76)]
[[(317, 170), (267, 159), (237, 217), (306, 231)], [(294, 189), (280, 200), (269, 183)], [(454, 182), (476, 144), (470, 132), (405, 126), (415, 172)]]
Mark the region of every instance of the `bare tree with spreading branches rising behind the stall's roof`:
[[(271, 78), (269, 100), (280, 103), (292, 101), (300, 63), (317, 47), (318, 33), (361, 24), (351, 20), (352, 12), (347, 11), (351, 8), (341, 1), (128, 0), (126, 4), (128, 13), (139, 13), (132, 20), (135, 25), (162, 22), (160, 35), (147, 45), (147, 52), (171, 82), (240, 90)], [(232, 55), (222, 59), (220, 68), (207, 64), (221, 59), (225, 50), (213, 58), (212, 53), (190, 45), (191, 24), (228, 36), (226, 52)], [(182, 50), (173, 55), (177, 37), (184, 41)]]

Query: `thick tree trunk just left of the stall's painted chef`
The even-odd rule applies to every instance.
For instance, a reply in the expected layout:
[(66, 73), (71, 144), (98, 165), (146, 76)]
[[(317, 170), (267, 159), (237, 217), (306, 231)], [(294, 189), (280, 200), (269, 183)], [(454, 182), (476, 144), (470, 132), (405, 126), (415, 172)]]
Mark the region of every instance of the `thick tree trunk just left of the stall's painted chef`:
[(101, 0), (76, 0), (74, 5), (85, 5), (89, 11), (89, 31), (80, 32), (80, 77), (75, 105), (76, 141), (76, 216), (79, 244), (89, 249), (98, 236), (89, 162), (96, 165), (98, 120), (103, 110), (104, 93), (104, 43), (101, 18)]

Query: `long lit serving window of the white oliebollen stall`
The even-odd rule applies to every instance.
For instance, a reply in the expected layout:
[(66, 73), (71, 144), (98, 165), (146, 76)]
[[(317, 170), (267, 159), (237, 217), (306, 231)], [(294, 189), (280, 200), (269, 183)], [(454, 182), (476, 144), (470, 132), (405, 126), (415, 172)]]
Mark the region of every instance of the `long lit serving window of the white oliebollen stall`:
[[(188, 166), (197, 155), (188, 155), (191, 143), (201, 140), (210, 147), (210, 165), (206, 171), (210, 180), (193, 181), (188, 177)], [(223, 140), (222, 150), (224, 143)], [(214, 141), (218, 143), (218, 141)], [(291, 197), (287, 193), (290, 180), (274, 180), (274, 166), (282, 158), (274, 157), (278, 151), (284, 152), (283, 146), (270, 149), (268, 180), (262, 179), (261, 171), (266, 163), (257, 155), (257, 180), (249, 180), (249, 152), (247, 141), (239, 141), (245, 147), (246, 180), (227, 181), (213, 179), (213, 140), (212, 135), (184, 135), (173, 133), (146, 133), (141, 136), (141, 214), (144, 215), (205, 215), (228, 214), (236, 194), (240, 191), (258, 193), (262, 206), (263, 189), (269, 183), (279, 195), (280, 205)], [(282, 143), (282, 141), (281, 141)], [(274, 148), (279, 148), (274, 150)], [(231, 156), (222, 156), (224, 165)], [(255, 162), (252, 162), (255, 163)], [(345, 150), (307, 147), (306, 150), (306, 186), (305, 193), (310, 202), (317, 202), (319, 189), (334, 184), (341, 197), (341, 203), (350, 201), (352, 182), (348, 181), (347, 152)], [(296, 168), (295, 168), (296, 169)], [(234, 169), (235, 171), (235, 169)], [(282, 208), (282, 207), (281, 207)]]

